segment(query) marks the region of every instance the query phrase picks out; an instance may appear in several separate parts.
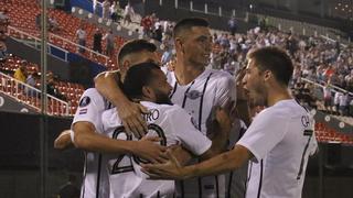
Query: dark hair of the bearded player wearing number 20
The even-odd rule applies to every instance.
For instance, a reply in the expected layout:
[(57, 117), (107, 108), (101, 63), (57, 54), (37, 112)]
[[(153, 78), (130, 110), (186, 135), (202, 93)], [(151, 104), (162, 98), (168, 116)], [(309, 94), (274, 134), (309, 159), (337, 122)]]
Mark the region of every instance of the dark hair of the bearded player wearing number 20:
[(126, 73), (122, 89), (130, 99), (142, 97), (142, 87), (154, 78), (153, 69), (160, 69), (154, 63), (141, 63), (131, 66)]

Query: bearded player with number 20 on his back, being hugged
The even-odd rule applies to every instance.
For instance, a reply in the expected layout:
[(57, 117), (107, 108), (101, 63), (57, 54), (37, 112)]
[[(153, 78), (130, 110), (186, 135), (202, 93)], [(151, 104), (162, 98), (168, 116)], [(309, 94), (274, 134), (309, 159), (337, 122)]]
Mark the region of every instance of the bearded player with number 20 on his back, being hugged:
[[(160, 67), (152, 63), (132, 66), (125, 78), (124, 90), (127, 96), (148, 108), (145, 120), (149, 123), (147, 136), (160, 136), (162, 145), (180, 145), (193, 155), (211, 157), (225, 150), (231, 119), (217, 110), (218, 133), (212, 142), (193, 124), (192, 117), (181, 107), (171, 105), (172, 90)], [(220, 119), (221, 117), (221, 119)], [(105, 133), (113, 139), (136, 140), (125, 132), (115, 109), (103, 113)], [(132, 166), (130, 164), (132, 162)], [(119, 155), (109, 161), (110, 195), (114, 197), (172, 197), (174, 182), (148, 180), (140, 172), (139, 157)]]

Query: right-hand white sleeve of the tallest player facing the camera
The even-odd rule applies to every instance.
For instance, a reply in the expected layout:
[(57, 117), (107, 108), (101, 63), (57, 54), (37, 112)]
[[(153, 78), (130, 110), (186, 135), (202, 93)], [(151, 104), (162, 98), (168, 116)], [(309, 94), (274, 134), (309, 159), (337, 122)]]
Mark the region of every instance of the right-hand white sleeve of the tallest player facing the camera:
[(217, 99), (216, 105), (224, 106), (229, 99), (236, 100), (236, 86), (235, 79), (226, 74), (220, 74), (220, 78), (217, 81), (217, 89), (215, 92), (215, 98)]

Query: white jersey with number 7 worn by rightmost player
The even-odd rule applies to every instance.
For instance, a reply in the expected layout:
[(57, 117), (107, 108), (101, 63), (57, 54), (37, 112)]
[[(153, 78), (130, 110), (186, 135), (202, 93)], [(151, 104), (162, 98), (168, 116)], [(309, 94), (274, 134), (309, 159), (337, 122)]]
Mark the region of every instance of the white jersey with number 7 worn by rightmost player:
[(296, 100), (257, 114), (237, 144), (254, 155), (247, 198), (300, 198), (309, 155), (317, 151), (313, 119)]

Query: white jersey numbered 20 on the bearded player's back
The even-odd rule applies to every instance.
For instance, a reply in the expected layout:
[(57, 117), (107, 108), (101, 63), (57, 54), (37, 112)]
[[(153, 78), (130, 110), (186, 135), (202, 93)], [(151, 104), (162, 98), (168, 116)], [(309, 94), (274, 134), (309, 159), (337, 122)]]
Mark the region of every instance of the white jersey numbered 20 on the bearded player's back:
[[(162, 139), (162, 145), (182, 145), (194, 155), (202, 155), (211, 147), (212, 142), (200, 133), (193, 124), (192, 117), (179, 106), (157, 105), (147, 101), (142, 101), (141, 105), (150, 112), (143, 116), (149, 123), (147, 136), (158, 135)], [(125, 133), (121, 121), (116, 119), (117, 117), (115, 109), (103, 113), (105, 131), (109, 136), (131, 140), (131, 136)], [(130, 167), (129, 172), (110, 174), (110, 197), (173, 197), (173, 180), (149, 180), (147, 179), (148, 176), (140, 170), (139, 164), (143, 162), (142, 160), (136, 156), (129, 156), (128, 158), (125, 155), (122, 157), (111, 160), (108, 163), (109, 169)], [(133, 169), (131, 169), (131, 164)]]

